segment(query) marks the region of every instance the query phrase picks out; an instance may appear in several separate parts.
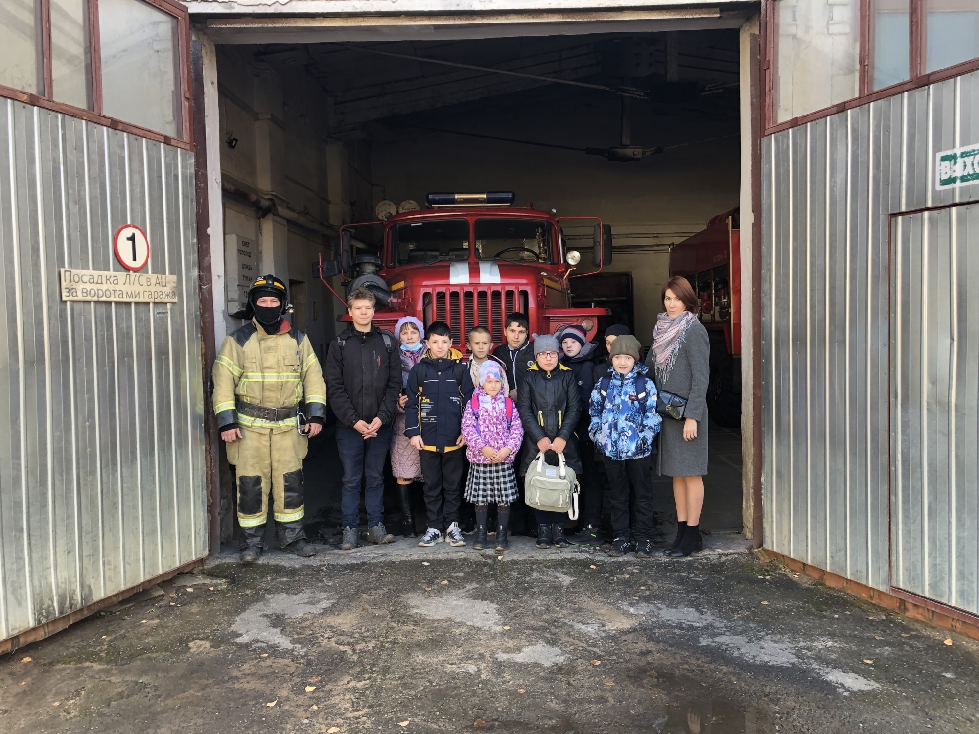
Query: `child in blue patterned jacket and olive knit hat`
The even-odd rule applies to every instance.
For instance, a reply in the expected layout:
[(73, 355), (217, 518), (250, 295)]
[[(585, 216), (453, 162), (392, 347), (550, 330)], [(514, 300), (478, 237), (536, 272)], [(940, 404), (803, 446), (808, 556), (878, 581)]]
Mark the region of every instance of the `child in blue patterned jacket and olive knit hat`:
[(609, 353), (612, 370), (591, 390), (588, 436), (607, 458), (612, 529), (615, 539), (609, 555), (629, 553), (629, 494), (636, 548), (635, 555), (649, 558), (653, 552), (653, 439), (659, 433), (656, 386), (646, 377), (648, 368), (639, 361), (639, 342), (631, 335), (619, 337)]

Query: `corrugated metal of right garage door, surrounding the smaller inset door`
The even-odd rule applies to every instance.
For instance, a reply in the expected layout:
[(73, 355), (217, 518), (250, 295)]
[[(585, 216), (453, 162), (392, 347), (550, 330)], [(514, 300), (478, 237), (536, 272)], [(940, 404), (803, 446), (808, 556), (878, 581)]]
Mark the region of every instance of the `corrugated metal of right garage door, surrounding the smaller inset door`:
[(977, 110), (972, 72), (762, 141), (765, 546), (885, 591), (889, 224), (979, 200), (936, 168)]

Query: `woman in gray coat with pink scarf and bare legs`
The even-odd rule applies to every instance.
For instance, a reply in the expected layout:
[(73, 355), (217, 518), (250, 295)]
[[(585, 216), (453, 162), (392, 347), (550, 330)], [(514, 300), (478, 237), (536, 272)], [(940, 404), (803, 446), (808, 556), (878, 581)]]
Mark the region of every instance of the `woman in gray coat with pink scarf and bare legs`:
[(707, 384), (711, 344), (700, 323), (697, 297), (686, 278), (675, 276), (663, 286), (665, 313), (656, 317), (653, 346), (646, 355), (657, 390), (686, 398), (683, 418), (663, 417), (658, 468), (674, 478), (676, 539), (667, 555), (689, 556), (703, 550), (700, 511), (707, 474)]

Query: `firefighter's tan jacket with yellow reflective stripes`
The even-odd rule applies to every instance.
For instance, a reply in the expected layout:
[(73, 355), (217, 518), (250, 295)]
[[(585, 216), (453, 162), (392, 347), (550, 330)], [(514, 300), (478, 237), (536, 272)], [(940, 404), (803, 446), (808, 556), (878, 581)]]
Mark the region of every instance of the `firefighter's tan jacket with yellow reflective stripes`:
[[(224, 338), (214, 360), (214, 415), (221, 431), (236, 426), (295, 431), (296, 418), (271, 422), (242, 415), (235, 400), (266, 408), (300, 406), (306, 418), (326, 417), (326, 385), (309, 340), (286, 319), (278, 334), (266, 334), (253, 319)], [(303, 400), (305, 407), (303, 408)]]

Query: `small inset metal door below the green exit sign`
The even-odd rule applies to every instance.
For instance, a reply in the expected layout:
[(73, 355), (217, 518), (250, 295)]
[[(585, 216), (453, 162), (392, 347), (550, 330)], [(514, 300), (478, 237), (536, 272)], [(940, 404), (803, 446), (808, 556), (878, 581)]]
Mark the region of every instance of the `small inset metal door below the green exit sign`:
[(979, 613), (979, 205), (891, 239), (891, 583)]

